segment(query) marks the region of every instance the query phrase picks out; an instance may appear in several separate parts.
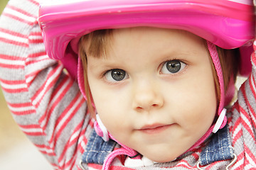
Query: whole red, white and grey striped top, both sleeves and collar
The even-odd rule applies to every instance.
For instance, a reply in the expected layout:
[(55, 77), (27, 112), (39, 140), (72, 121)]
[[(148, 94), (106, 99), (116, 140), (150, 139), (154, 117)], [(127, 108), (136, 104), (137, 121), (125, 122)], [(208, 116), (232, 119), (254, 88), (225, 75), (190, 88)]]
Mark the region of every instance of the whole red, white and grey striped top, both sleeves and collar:
[[(38, 27), (36, 0), (11, 0), (0, 18), (0, 81), (16, 123), (54, 169), (80, 169), (79, 163), (92, 132), (78, 84), (63, 65), (47, 55)], [(228, 113), (228, 125), (238, 161), (230, 169), (256, 169), (255, 53), (252, 74)], [(137, 169), (196, 169), (201, 147), (183, 159)], [(206, 169), (223, 169), (228, 161)], [(89, 169), (102, 169), (88, 164)], [(116, 159), (111, 169), (129, 169)]]

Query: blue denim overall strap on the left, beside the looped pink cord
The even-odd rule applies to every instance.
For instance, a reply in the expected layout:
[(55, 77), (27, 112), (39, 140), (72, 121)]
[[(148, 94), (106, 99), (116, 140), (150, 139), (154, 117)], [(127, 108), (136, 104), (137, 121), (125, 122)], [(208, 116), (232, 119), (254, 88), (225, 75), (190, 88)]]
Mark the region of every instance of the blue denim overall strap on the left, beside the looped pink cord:
[(117, 142), (109, 140), (105, 142), (102, 137), (98, 136), (95, 130), (90, 135), (90, 139), (87, 142), (86, 150), (82, 154), (83, 163), (103, 164), (107, 155), (109, 155)]

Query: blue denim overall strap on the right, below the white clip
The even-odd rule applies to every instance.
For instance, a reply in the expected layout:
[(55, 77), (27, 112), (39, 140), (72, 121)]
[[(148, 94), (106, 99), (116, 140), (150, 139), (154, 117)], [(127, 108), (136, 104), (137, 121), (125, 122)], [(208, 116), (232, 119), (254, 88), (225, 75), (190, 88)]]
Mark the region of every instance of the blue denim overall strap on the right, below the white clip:
[(210, 139), (210, 143), (200, 155), (200, 164), (205, 166), (213, 162), (233, 159), (233, 147), (230, 141), (228, 125), (218, 130)]

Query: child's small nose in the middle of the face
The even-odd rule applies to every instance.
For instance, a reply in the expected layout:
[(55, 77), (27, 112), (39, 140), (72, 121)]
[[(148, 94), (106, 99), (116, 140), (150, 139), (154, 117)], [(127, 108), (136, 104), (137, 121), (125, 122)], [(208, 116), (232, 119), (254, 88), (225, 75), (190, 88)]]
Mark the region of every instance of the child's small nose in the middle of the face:
[(156, 84), (152, 82), (137, 84), (134, 86), (132, 105), (135, 111), (150, 111), (161, 108), (164, 105), (164, 98)]

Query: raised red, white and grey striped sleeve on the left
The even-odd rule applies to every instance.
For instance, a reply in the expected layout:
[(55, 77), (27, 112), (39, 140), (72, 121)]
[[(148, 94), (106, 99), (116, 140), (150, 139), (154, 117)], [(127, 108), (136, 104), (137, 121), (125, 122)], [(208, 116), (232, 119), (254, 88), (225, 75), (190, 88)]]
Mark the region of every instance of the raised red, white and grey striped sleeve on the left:
[(51, 60), (38, 1), (11, 0), (0, 18), (0, 82), (21, 130), (55, 169), (78, 169), (92, 120), (78, 84)]

